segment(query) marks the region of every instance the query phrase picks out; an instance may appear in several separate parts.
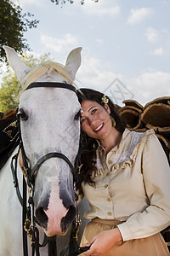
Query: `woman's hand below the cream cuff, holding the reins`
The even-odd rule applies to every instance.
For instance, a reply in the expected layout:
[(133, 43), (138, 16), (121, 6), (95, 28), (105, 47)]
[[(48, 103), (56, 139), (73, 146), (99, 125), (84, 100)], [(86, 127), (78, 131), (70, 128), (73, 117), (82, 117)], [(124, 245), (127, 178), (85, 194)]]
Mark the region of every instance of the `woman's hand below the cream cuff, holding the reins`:
[(116, 241), (122, 241), (122, 235), (118, 228), (102, 231), (84, 245), (90, 246), (90, 249), (84, 255), (90, 256), (106, 253), (114, 246)]

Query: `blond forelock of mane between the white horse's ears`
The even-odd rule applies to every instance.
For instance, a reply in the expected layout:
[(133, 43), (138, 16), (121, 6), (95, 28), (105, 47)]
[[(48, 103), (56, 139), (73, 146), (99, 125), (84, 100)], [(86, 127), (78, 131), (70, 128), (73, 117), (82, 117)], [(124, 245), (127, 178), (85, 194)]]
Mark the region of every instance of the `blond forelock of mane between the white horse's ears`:
[(55, 73), (59, 73), (59, 75), (63, 76), (65, 79), (69, 81), (70, 84), (73, 84), (73, 80), (70, 78), (68, 73), (65, 71), (65, 67), (54, 61), (45, 61), (39, 64), (37, 67), (31, 68), (31, 71), (26, 74), (26, 77), (22, 80), (22, 91), (26, 90), (29, 84), (36, 81), (40, 78), (44, 73), (47, 73), (48, 70), (51, 69)]

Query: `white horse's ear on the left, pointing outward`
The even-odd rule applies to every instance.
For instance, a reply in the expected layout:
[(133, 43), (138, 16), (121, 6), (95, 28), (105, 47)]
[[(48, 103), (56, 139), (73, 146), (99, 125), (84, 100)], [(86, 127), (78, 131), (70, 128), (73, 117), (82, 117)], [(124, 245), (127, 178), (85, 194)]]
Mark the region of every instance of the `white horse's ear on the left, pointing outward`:
[(20, 57), (17, 55), (13, 48), (3, 45), (3, 49), (7, 55), (8, 65), (14, 69), (17, 78), (21, 82), (22, 79), (24, 79), (26, 76), (26, 73), (30, 71), (30, 68), (20, 60)]

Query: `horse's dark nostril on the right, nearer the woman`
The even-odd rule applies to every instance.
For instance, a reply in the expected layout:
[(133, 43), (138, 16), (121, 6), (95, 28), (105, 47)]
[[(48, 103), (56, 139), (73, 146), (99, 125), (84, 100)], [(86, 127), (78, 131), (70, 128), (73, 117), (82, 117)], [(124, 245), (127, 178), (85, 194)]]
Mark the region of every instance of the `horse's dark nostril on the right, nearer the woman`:
[(65, 233), (66, 230), (68, 230), (68, 227), (71, 224), (71, 222), (74, 220), (75, 216), (76, 216), (76, 207), (74, 205), (71, 205), (65, 217), (61, 219), (60, 226), (63, 233)]

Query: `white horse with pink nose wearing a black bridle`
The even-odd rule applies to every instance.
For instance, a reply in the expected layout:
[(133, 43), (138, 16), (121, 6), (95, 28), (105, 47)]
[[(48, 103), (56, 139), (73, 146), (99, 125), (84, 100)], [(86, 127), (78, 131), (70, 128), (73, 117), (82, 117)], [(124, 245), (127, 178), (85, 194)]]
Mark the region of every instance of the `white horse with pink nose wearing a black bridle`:
[[(9, 65), (22, 85), (19, 105), (20, 131), (30, 168), (42, 156), (51, 152), (65, 154), (74, 165), (80, 136), (80, 125), (75, 119), (80, 111), (76, 93), (66, 88), (27, 88), (33, 82), (72, 84), (81, 64), (82, 48), (71, 51), (65, 66), (47, 62), (32, 69), (26, 67), (14, 49), (8, 46), (3, 48)], [(0, 256), (23, 255), (22, 208), (10, 169), (11, 158), (17, 150), (18, 148), (14, 150), (0, 172)], [(19, 161), (22, 165), (21, 157)], [(35, 216), (47, 236), (64, 235), (75, 218), (76, 211), (71, 168), (65, 160), (52, 157), (37, 166), (34, 174)], [(19, 168), (20, 189), (22, 176)], [(40, 232), (42, 239), (41, 229)], [(28, 243), (30, 244), (29, 240)], [(40, 248), (40, 254), (48, 255), (47, 248)]]

